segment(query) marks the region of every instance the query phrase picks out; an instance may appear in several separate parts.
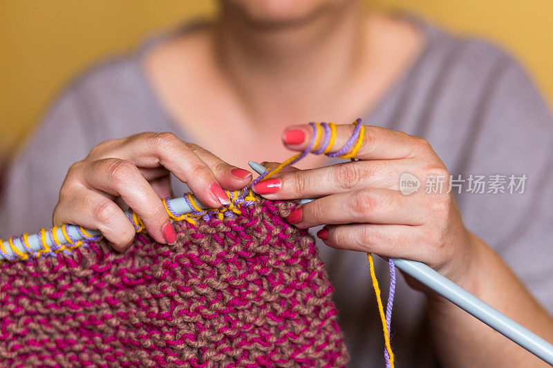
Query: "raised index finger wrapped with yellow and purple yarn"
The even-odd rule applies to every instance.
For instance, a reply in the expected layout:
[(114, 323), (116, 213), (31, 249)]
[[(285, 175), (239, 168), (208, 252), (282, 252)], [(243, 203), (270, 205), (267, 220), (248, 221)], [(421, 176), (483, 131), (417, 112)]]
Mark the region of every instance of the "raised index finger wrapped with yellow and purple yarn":
[[(329, 153), (335, 153), (342, 148), (348, 139), (352, 137), (355, 125), (337, 125), (336, 138)], [(291, 132), (301, 132), (298, 136), (305, 137), (303, 141), (297, 143), (300, 139), (288, 140)], [(303, 151), (308, 148), (314, 132), (310, 125), (290, 126), (283, 133), (283, 143), (293, 151)], [(324, 129), (321, 129), (321, 135), (324, 135)], [(294, 134), (295, 135), (295, 134)], [(324, 142), (321, 137), (319, 146)], [(355, 142), (351, 145), (353, 148)], [(355, 155), (358, 159), (402, 159), (413, 157), (421, 150), (431, 149), (428, 142), (420, 137), (415, 137), (403, 133), (400, 130), (390, 130), (379, 126), (364, 126), (363, 143)], [(351, 151), (351, 150), (349, 150)]]

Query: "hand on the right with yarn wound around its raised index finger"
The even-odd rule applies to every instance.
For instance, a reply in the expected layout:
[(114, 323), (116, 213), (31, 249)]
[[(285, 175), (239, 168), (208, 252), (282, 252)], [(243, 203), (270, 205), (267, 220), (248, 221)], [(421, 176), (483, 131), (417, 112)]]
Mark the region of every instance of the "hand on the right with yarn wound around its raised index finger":
[[(354, 128), (337, 126), (335, 151)], [(303, 151), (312, 134), (309, 125), (293, 126), (283, 142)], [(287, 220), (301, 229), (324, 224), (317, 236), (333, 248), (418, 260), (456, 282), (470, 273), (479, 242), (465, 228), (449, 172), (430, 144), (401, 131), (365, 126), (355, 158), (359, 161), (281, 172), (254, 191), (270, 200), (321, 197), (294, 209)], [(400, 191), (406, 173), (420, 181), (411, 194)], [(435, 185), (427, 186), (427, 180)]]

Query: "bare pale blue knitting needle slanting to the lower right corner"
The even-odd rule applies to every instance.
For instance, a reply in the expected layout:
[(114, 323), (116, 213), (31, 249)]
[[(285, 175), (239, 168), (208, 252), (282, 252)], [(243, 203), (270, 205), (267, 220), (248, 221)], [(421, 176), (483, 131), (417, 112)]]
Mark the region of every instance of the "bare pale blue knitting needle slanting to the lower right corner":
[[(248, 164), (260, 175), (267, 170), (265, 166), (253, 161), (248, 162)], [(301, 204), (312, 201), (314, 199), (303, 199), (301, 200)], [(425, 284), (453, 304), (456, 304), (460, 309), (467, 311), (467, 313), (470, 313), (503, 336), (516, 342), (516, 344), (521, 345), (521, 347), (527, 349), (527, 351), (530, 351), (538, 358), (553, 365), (553, 345), (543, 340), (543, 338), (514, 322), (514, 320), (508, 318), (489, 304), (476, 298), (476, 296), (445, 276), (440, 275), (440, 273), (434, 271), (426, 264), (413, 260), (402, 260), (400, 258), (394, 258), (394, 263), (395, 267), (419, 280), (422, 284)]]

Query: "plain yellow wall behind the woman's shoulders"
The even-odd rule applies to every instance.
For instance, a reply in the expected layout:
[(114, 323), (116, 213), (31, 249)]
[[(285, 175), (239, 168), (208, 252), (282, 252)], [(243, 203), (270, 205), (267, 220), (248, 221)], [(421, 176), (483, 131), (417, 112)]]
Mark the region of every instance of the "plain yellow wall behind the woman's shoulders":
[[(552, 0), (365, 2), (498, 41), (518, 55), (553, 105)], [(0, 0), (0, 153), (24, 137), (75, 73), (153, 31), (215, 11), (211, 0)]]

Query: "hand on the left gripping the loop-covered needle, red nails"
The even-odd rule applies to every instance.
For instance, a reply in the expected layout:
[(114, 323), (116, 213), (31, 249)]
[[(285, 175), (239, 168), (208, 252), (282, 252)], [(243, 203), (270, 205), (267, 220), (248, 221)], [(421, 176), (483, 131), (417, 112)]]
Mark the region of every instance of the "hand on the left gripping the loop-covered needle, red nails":
[(176, 233), (162, 202), (171, 195), (169, 173), (212, 208), (229, 203), (223, 188), (238, 190), (252, 179), (250, 171), (172, 133), (140, 133), (102, 142), (69, 168), (53, 222), (100, 230), (114, 249), (123, 251), (133, 241), (135, 228), (115, 204), (121, 197), (156, 242), (174, 244)]

